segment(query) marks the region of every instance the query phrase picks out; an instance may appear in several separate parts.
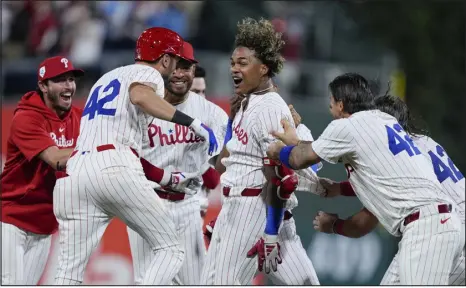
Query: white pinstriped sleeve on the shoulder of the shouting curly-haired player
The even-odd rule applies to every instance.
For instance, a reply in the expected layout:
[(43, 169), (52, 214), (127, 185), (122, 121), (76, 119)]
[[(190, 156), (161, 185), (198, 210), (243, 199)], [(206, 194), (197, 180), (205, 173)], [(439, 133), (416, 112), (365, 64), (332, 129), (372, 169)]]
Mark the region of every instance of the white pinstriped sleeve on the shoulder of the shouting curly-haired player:
[(272, 136), (273, 131), (283, 132), (283, 127), (281, 120), (288, 120), (291, 125), (294, 125), (293, 117), (291, 112), (286, 107), (283, 109), (280, 106), (269, 106), (264, 107), (261, 112), (257, 114), (256, 123), (254, 126), (254, 136), (258, 142), (259, 149), (262, 152), (262, 157), (267, 157), (267, 149), (272, 142), (277, 141), (275, 137)]

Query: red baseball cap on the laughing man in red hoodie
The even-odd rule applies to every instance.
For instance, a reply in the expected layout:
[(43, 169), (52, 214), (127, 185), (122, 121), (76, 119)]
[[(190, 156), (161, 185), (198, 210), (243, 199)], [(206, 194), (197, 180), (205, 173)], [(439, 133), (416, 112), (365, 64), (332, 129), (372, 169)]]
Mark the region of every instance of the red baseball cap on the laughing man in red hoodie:
[(50, 57), (42, 61), (37, 71), (37, 78), (39, 81), (44, 81), (66, 72), (73, 72), (76, 77), (84, 75), (81, 69), (75, 69), (70, 59), (63, 56)]

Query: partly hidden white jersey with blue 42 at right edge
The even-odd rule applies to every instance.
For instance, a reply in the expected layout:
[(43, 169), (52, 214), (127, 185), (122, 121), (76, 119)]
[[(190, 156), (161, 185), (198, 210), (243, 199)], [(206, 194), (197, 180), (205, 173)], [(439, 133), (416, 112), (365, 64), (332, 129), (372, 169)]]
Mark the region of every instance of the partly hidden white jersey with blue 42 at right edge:
[(448, 195), (458, 206), (463, 224), (465, 223), (464, 176), (448, 157), (447, 152), (432, 138), (424, 135), (413, 136), (413, 141), (422, 154), (432, 163), (437, 180), (442, 185), (442, 192)]

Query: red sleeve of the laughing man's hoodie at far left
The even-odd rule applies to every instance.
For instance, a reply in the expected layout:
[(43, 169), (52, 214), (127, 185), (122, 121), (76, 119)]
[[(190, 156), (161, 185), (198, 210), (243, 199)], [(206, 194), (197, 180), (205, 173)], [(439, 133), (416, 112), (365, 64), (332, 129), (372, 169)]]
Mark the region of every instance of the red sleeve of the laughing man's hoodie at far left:
[(51, 146), (56, 146), (45, 128), (44, 119), (27, 111), (18, 112), (11, 123), (10, 137), (28, 161)]

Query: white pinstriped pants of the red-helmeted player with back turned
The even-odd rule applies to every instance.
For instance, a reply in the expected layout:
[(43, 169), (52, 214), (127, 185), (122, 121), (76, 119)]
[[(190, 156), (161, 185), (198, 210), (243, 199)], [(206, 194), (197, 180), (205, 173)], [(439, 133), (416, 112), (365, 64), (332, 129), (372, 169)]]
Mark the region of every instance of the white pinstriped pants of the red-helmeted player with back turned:
[[(144, 285), (169, 285), (184, 251), (175, 223), (131, 151), (108, 150), (73, 159), (71, 176), (57, 180), (54, 213), (60, 239), (56, 285), (81, 284), (89, 257), (113, 217), (120, 218), (150, 245), (154, 258)], [(79, 166), (77, 166), (79, 165)]]

